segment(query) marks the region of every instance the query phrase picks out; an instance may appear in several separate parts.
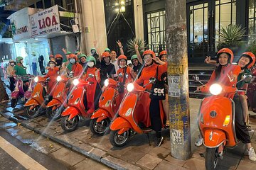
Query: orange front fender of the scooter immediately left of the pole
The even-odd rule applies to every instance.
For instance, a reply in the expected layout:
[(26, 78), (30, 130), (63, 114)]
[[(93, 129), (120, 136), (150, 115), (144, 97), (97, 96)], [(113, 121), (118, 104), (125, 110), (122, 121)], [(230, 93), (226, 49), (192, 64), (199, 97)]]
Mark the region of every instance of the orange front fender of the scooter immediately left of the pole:
[(114, 119), (110, 125), (111, 130), (119, 130), (118, 134), (121, 135), (123, 132), (132, 129), (132, 125), (122, 117)]

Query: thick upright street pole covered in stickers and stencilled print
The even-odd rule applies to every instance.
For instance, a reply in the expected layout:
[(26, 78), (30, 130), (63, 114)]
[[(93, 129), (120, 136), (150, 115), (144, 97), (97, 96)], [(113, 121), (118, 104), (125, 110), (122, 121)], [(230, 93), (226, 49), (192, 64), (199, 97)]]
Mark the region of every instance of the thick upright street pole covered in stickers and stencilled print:
[(186, 0), (166, 0), (171, 156), (191, 157)]

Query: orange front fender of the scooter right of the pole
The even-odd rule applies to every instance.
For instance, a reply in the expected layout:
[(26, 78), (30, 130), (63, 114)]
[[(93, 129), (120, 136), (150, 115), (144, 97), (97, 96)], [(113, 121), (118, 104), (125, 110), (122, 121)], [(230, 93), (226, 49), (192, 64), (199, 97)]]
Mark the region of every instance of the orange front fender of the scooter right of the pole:
[(204, 145), (206, 147), (218, 147), (226, 140), (223, 130), (206, 130), (204, 132)]

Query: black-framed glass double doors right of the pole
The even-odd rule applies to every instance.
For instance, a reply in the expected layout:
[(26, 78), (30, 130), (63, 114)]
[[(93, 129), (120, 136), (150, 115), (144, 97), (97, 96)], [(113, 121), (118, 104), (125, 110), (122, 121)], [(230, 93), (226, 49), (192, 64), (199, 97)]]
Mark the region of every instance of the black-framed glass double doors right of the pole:
[(187, 4), (188, 61), (203, 62), (218, 50), (220, 28), (235, 24), (235, 0), (204, 0)]

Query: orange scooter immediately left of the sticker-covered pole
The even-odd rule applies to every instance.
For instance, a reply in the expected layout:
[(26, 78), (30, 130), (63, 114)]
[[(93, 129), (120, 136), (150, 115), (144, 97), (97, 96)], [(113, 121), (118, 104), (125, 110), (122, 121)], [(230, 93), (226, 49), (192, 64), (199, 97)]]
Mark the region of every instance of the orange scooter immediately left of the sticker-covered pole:
[[(149, 84), (155, 84), (156, 79), (152, 77)], [(145, 84), (146, 86), (148, 84)], [(132, 135), (136, 133), (148, 133), (151, 131), (149, 124), (141, 123), (146, 116), (145, 101), (149, 98), (149, 91), (138, 84), (127, 84), (129, 92), (119, 107), (119, 117), (115, 118), (110, 125), (110, 143), (114, 147), (122, 147), (127, 144)], [(149, 115), (148, 115), (149, 116)]]

